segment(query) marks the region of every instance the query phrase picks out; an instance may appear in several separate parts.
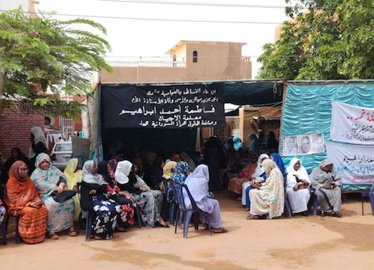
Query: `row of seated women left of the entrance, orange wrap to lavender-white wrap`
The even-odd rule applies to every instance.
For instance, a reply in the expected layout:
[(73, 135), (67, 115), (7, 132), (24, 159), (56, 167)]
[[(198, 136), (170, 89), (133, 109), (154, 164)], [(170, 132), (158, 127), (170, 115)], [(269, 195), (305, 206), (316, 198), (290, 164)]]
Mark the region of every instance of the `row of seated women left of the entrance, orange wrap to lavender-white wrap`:
[[(227, 232), (222, 228), (218, 200), (208, 191), (207, 165), (196, 166), (187, 153), (165, 161), (149, 153), (145, 164), (137, 165), (137, 161), (116, 155), (98, 164), (87, 160), (79, 169), (78, 160), (72, 158), (61, 172), (48, 154), (39, 153), (29, 176), (27, 163), (17, 160), (9, 169), (0, 200), (0, 224), (6, 212), (18, 216), (19, 235), (25, 243), (40, 243), (46, 236), (58, 239), (64, 231), (76, 236), (74, 224), (81, 210), (91, 215), (93, 238), (110, 239), (116, 231), (129, 231), (135, 209), (145, 226), (168, 228), (168, 207), (175, 200), (173, 184), (180, 184), (189, 189), (200, 208), (201, 222), (215, 233)], [(192, 208), (186, 194), (184, 203)]]

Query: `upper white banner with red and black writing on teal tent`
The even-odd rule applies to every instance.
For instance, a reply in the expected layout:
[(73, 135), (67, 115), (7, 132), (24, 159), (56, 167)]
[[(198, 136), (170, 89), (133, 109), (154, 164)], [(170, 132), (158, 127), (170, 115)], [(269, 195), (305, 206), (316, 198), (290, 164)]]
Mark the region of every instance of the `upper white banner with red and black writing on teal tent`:
[(374, 108), (333, 101), (330, 137), (333, 141), (374, 146)]

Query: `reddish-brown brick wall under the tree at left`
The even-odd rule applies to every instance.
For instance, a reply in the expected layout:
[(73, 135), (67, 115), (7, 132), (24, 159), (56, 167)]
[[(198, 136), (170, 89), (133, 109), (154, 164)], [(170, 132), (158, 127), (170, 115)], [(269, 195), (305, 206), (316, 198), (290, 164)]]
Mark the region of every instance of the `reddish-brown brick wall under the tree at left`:
[(20, 110), (4, 110), (0, 115), (0, 152), (3, 158), (11, 155), (13, 147), (19, 147), (26, 156), (29, 154), (31, 128), (44, 129), (44, 113), (24, 113)]

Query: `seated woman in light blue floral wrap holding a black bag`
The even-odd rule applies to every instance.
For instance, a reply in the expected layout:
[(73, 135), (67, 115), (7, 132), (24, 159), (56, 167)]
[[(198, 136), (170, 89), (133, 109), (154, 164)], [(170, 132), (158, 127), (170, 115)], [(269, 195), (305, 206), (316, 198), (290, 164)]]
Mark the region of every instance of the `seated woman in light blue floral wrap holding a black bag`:
[(56, 233), (69, 229), (69, 236), (76, 236), (73, 226), (74, 200), (69, 199), (58, 203), (52, 193), (62, 193), (67, 190), (67, 179), (60, 169), (52, 165), (51, 158), (46, 153), (37, 155), (36, 169), (31, 175), (32, 181), (39, 191), (48, 212), (48, 233), (52, 239), (58, 239)]

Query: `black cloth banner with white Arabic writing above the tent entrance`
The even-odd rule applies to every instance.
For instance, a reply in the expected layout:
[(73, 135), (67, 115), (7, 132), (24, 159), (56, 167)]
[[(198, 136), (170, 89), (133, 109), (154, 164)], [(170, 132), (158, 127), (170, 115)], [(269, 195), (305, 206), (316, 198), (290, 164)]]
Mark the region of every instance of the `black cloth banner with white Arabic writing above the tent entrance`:
[(196, 128), (225, 124), (220, 84), (101, 86), (104, 127)]

